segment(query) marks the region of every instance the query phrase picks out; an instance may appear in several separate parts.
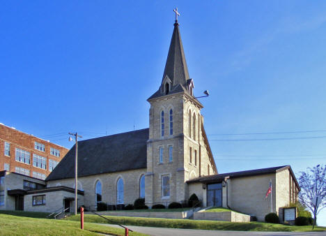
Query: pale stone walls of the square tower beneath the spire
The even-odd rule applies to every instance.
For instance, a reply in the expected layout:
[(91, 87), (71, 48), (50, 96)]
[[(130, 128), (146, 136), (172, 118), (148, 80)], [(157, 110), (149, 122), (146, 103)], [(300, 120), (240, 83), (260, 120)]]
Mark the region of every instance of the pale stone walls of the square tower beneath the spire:
[[(173, 134), (169, 133), (169, 112), (173, 110)], [(180, 202), (189, 198), (187, 180), (208, 175), (211, 165), (203, 142), (200, 107), (184, 94), (173, 94), (150, 101), (150, 138), (147, 145), (146, 204)], [(192, 135), (189, 134), (189, 110)], [(162, 136), (164, 111), (164, 136)], [(194, 131), (194, 116), (195, 131)], [(169, 161), (169, 146), (173, 147), (173, 161)], [(160, 147), (163, 161), (160, 163)], [(192, 161), (190, 162), (190, 147)], [(196, 153), (196, 154), (195, 154)], [(195, 161), (196, 159), (196, 161)], [(200, 162), (201, 161), (201, 162)], [(201, 169), (201, 171), (200, 171)], [(212, 175), (212, 168), (210, 166)], [(170, 176), (170, 197), (162, 198), (162, 175)]]

